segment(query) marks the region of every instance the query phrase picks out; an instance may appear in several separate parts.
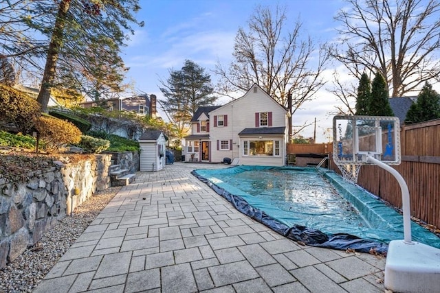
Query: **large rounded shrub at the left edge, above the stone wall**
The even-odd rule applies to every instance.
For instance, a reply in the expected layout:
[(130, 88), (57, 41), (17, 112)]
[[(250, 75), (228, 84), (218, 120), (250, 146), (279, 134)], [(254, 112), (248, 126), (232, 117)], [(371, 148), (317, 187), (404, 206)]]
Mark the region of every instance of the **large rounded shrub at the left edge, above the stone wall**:
[(0, 84), (0, 119), (12, 124), (20, 132), (30, 132), (41, 115), (41, 106), (35, 99), (10, 86)]

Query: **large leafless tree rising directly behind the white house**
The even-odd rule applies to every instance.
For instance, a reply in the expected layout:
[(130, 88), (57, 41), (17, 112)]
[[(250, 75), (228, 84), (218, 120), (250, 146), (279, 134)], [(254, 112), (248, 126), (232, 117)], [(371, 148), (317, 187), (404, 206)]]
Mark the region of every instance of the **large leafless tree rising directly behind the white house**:
[(283, 106), (292, 97), (293, 114), (312, 99), (325, 82), (322, 79), (329, 56), (301, 30), (298, 19), (287, 31), (286, 9), (258, 6), (248, 21), (248, 30), (240, 28), (235, 37), (234, 60), (228, 69), (220, 64), (214, 72), (220, 76), (219, 91), (225, 95), (247, 91), (252, 84), (261, 86)]

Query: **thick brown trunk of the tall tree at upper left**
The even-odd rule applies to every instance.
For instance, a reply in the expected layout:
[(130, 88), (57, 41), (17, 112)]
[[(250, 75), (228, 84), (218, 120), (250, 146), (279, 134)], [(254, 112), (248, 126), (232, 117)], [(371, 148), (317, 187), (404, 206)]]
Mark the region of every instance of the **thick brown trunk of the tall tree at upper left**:
[(66, 24), (67, 12), (69, 11), (70, 0), (61, 0), (56, 16), (54, 32), (47, 51), (46, 65), (43, 73), (43, 80), (41, 82), (41, 89), (37, 101), (41, 104), (41, 111), (47, 113), (47, 104), (50, 99), (50, 89), (54, 84), (56, 77), (56, 60), (63, 45), (64, 28)]

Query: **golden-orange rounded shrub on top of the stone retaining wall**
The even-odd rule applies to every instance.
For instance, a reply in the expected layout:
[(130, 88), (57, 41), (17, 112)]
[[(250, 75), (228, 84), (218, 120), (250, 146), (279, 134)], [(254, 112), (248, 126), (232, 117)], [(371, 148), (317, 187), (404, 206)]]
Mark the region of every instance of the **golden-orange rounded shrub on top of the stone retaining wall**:
[(79, 143), (81, 131), (69, 121), (43, 115), (35, 125), (46, 152), (55, 152), (65, 145)]

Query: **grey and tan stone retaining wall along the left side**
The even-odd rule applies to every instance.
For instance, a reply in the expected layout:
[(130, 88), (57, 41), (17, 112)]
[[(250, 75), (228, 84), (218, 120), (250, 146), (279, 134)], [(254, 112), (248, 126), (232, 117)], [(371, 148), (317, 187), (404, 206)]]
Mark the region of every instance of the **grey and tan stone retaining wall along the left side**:
[(16, 259), (58, 220), (96, 191), (110, 187), (109, 154), (36, 170), (25, 183), (0, 179), (0, 268)]

